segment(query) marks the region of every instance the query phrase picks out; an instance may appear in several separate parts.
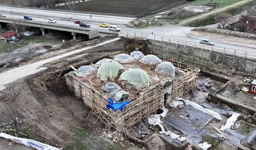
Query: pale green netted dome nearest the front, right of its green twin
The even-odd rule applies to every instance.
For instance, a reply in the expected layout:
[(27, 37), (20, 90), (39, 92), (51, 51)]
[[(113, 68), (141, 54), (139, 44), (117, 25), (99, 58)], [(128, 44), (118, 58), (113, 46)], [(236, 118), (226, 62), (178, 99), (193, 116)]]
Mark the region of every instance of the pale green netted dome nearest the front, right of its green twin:
[(148, 87), (150, 82), (148, 74), (136, 68), (123, 72), (120, 80), (126, 84), (132, 84), (137, 90)]

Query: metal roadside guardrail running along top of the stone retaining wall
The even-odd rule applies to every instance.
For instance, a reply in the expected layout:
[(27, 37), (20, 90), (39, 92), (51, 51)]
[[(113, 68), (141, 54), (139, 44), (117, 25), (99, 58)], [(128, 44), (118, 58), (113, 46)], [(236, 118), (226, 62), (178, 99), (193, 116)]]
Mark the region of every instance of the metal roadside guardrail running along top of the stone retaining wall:
[(174, 39), (174, 38), (167, 38), (167, 37), (162, 37), (162, 36), (154, 36), (154, 35), (150, 35), (150, 34), (141, 34), (141, 33), (135, 33), (135, 32), (127, 32), (126, 35), (123, 35), (126, 38), (136, 38), (136, 39), (141, 39), (141, 40), (153, 40), (154, 41), (159, 41), (159, 42), (164, 42), (164, 43), (168, 43), (168, 44), (173, 44), (176, 45), (176, 47), (178, 45), (184, 45), (184, 47), (188, 46), (188, 47), (193, 47), (193, 48), (198, 48), (201, 50), (207, 50), (211, 52), (217, 52), (219, 54), (226, 54), (229, 55), (231, 57), (237, 57), (237, 58), (248, 58), (251, 60), (255, 60), (256, 62), (256, 53), (254, 52), (245, 52), (242, 50), (235, 50), (235, 49), (231, 49), (231, 48), (223, 48), (220, 46), (210, 46), (210, 45), (204, 45), (204, 44), (200, 44), (200, 43), (196, 43), (196, 42), (191, 42), (191, 41), (185, 41), (185, 40), (178, 40), (178, 39)]

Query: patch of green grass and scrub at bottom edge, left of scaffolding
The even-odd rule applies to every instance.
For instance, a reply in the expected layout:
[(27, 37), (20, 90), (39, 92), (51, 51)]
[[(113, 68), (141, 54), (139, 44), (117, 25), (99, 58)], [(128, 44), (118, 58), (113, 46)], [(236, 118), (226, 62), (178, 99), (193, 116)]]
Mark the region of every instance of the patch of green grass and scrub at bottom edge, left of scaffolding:
[(75, 136), (76, 140), (67, 144), (64, 150), (117, 150), (106, 140), (94, 136), (87, 130), (78, 129)]

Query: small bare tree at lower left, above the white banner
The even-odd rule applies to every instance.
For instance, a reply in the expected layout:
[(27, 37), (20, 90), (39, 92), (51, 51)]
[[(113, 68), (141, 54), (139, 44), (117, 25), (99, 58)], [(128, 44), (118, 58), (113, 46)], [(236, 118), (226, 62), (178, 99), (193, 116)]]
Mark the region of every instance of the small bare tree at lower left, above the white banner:
[(2, 115), (5, 117), (6, 121), (12, 123), (16, 136), (18, 136), (18, 130), (20, 129), (21, 120), (23, 119), (20, 108), (20, 104), (18, 102), (14, 102), (12, 104), (5, 105), (2, 110)]

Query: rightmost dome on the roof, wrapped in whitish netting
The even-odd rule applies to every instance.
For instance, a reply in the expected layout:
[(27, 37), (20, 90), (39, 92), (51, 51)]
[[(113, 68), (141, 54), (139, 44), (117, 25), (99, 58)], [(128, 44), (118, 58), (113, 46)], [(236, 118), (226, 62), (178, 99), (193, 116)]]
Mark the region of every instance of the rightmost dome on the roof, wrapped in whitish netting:
[(175, 67), (170, 62), (161, 62), (156, 66), (155, 69), (157, 72), (160, 72), (161, 74), (167, 74), (172, 77), (175, 77)]

